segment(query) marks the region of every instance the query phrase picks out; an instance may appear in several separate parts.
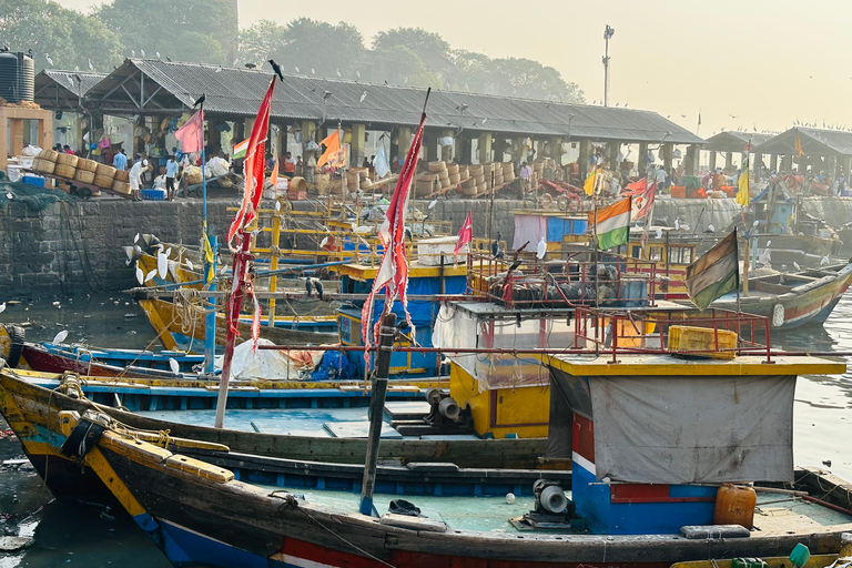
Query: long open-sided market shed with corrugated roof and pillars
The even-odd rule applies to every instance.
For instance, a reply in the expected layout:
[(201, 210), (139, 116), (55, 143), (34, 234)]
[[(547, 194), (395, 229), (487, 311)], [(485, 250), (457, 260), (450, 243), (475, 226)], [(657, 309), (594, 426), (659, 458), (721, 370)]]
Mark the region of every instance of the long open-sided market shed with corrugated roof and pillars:
[[(234, 134), (244, 135), (271, 78), (266, 70), (128, 59), (87, 92), (84, 104), (109, 114), (168, 116), (189, 111), (203, 93), (207, 120), (241, 122), (242, 132)], [(275, 90), (272, 121), (284, 126), (283, 132), (298, 130), (304, 141), (315, 139), (316, 129), (339, 122), (352, 131), (355, 161), (363, 158), (367, 129), (392, 132), (397, 145), (407, 148), (425, 94), (420, 88), (285, 75)], [(479, 151), (485, 150), (489, 158), (510, 153), (507, 145), (511, 140), (527, 136), (541, 149), (545, 144), (554, 148), (578, 142), (581, 158), (590, 156), (591, 142), (604, 142), (608, 148), (637, 143), (640, 150), (660, 144), (669, 156), (674, 144), (703, 143), (650, 111), (455, 91), (432, 92), (426, 125), (429, 159), (463, 161), (470, 160), (469, 149), (465, 155), (464, 144), (459, 144), (457, 155), (448, 158), (439, 154), (438, 138), (476, 140)]]

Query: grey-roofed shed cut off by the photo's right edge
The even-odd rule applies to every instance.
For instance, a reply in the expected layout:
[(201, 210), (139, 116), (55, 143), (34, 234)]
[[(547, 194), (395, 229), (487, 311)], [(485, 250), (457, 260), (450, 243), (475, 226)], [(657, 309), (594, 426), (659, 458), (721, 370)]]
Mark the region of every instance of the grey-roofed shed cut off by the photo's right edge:
[(841, 170), (846, 176), (852, 171), (852, 132), (845, 130), (794, 126), (760, 144), (754, 151), (783, 155), (782, 171), (791, 171), (793, 162), (801, 173), (826, 172), (836, 178)]

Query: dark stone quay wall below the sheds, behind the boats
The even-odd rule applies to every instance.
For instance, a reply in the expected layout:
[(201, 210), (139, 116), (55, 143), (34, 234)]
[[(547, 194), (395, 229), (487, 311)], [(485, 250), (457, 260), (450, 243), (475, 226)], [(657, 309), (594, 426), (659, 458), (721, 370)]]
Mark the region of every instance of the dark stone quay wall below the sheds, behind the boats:
[[(227, 209), (236, 205), (236, 200), (209, 203), (209, 224), (220, 239), (233, 219), (233, 212)], [(438, 200), (434, 209), (426, 211), (432, 220), (449, 221), (453, 232), (470, 211), (477, 236), (487, 236), (490, 216), (491, 235), (500, 231), (511, 246), (513, 212), (525, 205), (531, 206), (531, 203), (498, 200), (490, 212), (487, 200)], [(312, 207), (307, 202), (295, 203), (296, 210)], [(803, 209), (832, 226), (852, 221), (852, 199), (809, 197), (803, 200)], [(703, 232), (708, 225), (719, 232), (739, 213), (740, 207), (733, 200), (659, 199), (653, 216), (655, 223), (667, 221), (673, 225), (677, 219), (696, 232)], [(0, 210), (0, 294), (7, 297), (74, 294), (131, 287), (135, 281), (132, 268), (124, 264), (123, 245), (132, 244), (136, 233), (153, 233), (165, 242), (196, 245), (201, 222), (199, 200), (57, 202), (40, 211), (12, 200)]]

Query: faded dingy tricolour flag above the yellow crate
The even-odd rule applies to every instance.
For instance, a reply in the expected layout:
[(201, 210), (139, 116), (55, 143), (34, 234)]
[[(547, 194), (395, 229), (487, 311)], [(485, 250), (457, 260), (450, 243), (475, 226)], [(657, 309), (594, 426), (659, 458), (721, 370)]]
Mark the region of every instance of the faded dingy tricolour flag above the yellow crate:
[(687, 266), (687, 293), (700, 311), (740, 286), (737, 229)]

